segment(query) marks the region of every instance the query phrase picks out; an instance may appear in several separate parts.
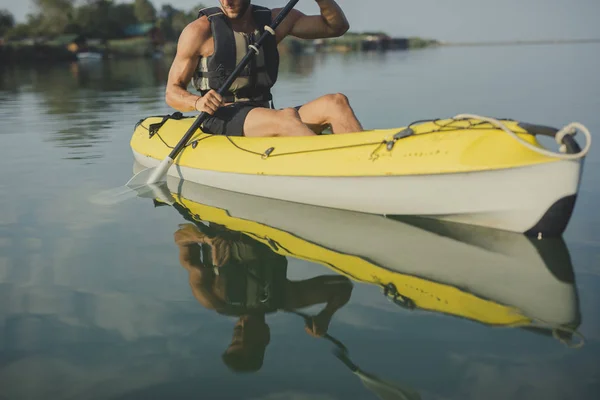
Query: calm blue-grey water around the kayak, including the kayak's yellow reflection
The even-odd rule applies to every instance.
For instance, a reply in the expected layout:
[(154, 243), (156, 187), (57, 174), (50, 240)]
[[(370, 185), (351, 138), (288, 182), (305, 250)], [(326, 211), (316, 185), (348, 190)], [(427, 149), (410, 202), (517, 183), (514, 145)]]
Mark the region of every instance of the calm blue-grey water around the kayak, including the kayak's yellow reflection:
[[(598, 45), (306, 56), (285, 63), (275, 95), (283, 107), (344, 92), (367, 128), (469, 112), (578, 121), (597, 139), (599, 70)], [(398, 388), (423, 399), (598, 398), (599, 143), (564, 242), (539, 249), (518, 235), (450, 238), (315, 209), (269, 219), (264, 204), (200, 191), (212, 204), (187, 203), (192, 213), (295, 255), (272, 256), (294, 282), (278, 290), (292, 304), (321, 303), (302, 310), (310, 315), (328, 300), (329, 334), (371, 380), (286, 312), (246, 321), (264, 357), (236, 373), (223, 354), (238, 319), (197, 301), (180, 262), (185, 210), (88, 201), (131, 176), (134, 124), (172, 112), (167, 72), (167, 61), (147, 60), (0, 69), (0, 399), (403, 398)], [(237, 211), (223, 220), (218, 207)], [(410, 277), (420, 270), (431, 279)], [(380, 281), (403, 287), (415, 308), (388, 301)]]

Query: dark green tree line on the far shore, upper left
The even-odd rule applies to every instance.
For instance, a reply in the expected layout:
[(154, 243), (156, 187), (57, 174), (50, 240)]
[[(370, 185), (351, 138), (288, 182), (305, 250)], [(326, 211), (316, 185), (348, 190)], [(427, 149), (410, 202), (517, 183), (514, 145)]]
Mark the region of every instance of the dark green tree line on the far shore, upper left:
[(154, 23), (166, 40), (177, 40), (183, 28), (196, 19), (198, 4), (180, 10), (169, 4), (156, 9), (150, 0), (116, 3), (113, 0), (31, 0), (35, 11), (23, 23), (16, 23), (8, 10), (0, 10), (0, 38), (21, 39), (81, 34), (98, 39), (125, 37), (126, 28)]

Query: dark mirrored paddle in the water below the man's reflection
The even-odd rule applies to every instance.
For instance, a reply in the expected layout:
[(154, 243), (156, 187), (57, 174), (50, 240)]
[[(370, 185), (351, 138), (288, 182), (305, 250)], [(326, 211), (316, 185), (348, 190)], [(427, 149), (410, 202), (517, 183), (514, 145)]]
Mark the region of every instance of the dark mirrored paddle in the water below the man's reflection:
[[(285, 311), (299, 315), (304, 318), (304, 320), (309, 323), (311, 317), (307, 314), (296, 310), (288, 310)], [(352, 371), (356, 376), (358, 376), (365, 385), (366, 388), (371, 390), (373, 393), (377, 395), (381, 400), (420, 400), (421, 396), (412, 388), (406, 386), (400, 386), (397, 383), (385, 381), (376, 377), (375, 375), (371, 375), (368, 372), (361, 370), (356, 364), (352, 362), (350, 357), (348, 356), (348, 349), (342, 342), (338, 339), (334, 338), (330, 334), (326, 333), (323, 335), (323, 338), (329, 340), (336, 347), (334, 351), (334, 355), (342, 362), (350, 371)]]

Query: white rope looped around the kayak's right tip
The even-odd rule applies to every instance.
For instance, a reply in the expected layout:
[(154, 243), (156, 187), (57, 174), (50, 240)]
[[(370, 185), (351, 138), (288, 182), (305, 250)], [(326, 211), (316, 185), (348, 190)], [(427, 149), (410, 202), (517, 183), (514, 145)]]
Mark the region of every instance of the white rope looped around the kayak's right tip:
[[(495, 125), (498, 128), (500, 128), (502, 131), (506, 132), (510, 137), (517, 140), (519, 143), (521, 143), (523, 146), (527, 147), (528, 149), (533, 150), (536, 153), (542, 154), (544, 156), (560, 158), (562, 160), (577, 160), (579, 158), (583, 158), (587, 155), (587, 153), (590, 151), (590, 147), (592, 146), (592, 135), (590, 134), (590, 131), (585, 126), (580, 124), (579, 122), (572, 122), (572, 123), (566, 125), (564, 128), (559, 130), (556, 133), (556, 135), (554, 135), (554, 139), (556, 140), (556, 143), (558, 143), (560, 145), (560, 150), (559, 150), (560, 153), (557, 153), (554, 151), (541, 149), (541, 148), (534, 146), (531, 143), (521, 139), (513, 131), (508, 129), (508, 127), (506, 125), (504, 125), (501, 121), (498, 121), (495, 118), (482, 117), (482, 116), (474, 115), (474, 114), (459, 114), (459, 115), (455, 116), (454, 119), (479, 119), (481, 121), (489, 122), (490, 124)], [(579, 153), (564, 154), (564, 153), (566, 153), (567, 148), (563, 144), (562, 140), (564, 139), (564, 137), (566, 135), (575, 136), (575, 134), (577, 133), (577, 130), (580, 130), (585, 135), (585, 138), (586, 138), (585, 147)]]

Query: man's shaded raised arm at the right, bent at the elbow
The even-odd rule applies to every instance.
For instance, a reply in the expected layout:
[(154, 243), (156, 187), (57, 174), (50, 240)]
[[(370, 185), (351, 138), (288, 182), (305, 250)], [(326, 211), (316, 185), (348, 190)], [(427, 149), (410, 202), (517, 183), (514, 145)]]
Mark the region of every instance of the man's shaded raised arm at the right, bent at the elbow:
[[(315, 0), (321, 9), (321, 15), (306, 15), (292, 10), (277, 29), (277, 41), (287, 35), (300, 39), (322, 39), (342, 36), (350, 24), (340, 6), (334, 0)], [(273, 9), (273, 18), (281, 9)]]

